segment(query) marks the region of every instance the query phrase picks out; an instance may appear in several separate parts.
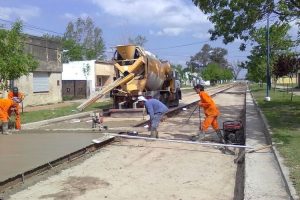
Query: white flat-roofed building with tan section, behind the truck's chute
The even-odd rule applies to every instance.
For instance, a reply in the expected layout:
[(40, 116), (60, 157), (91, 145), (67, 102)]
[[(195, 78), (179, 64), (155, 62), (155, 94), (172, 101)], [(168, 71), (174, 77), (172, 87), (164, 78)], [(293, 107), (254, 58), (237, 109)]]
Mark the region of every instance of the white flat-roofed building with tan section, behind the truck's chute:
[(63, 64), (63, 99), (82, 99), (111, 83), (114, 67), (106, 61), (72, 61)]

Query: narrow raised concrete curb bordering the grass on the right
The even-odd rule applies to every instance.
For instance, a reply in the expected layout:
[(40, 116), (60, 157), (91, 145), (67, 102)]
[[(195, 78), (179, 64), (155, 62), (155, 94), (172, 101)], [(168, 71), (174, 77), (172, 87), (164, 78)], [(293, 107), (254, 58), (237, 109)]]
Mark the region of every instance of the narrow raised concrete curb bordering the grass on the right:
[(251, 90), (250, 90), (250, 94), (251, 94), (252, 100), (254, 102), (254, 105), (256, 107), (256, 111), (258, 112), (260, 118), (263, 121), (263, 126), (264, 126), (264, 129), (266, 130), (266, 131), (264, 131), (266, 140), (269, 144), (272, 145), (271, 150), (272, 150), (272, 152), (275, 156), (276, 162), (279, 166), (279, 170), (280, 170), (282, 179), (283, 179), (284, 184), (285, 184), (285, 189), (286, 189), (287, 193), (289, 194), (291, 200), (299, 200), (300, 198), (296, 193), (296, 189), (294, 188), (293, 183), (291, 182), (291, 180), (289, 178), (289, 174), (290, 174), (289, 169), (288, 169), (288, 167), (286, 167), (284, 165), (284, 159), (280, 156), (279, 151), (273, 145), (272, 136), (271, 136), (273, 134), (273, 132), (271, 130), (271, 126), (269, 125), (269, 123), (268, 123), (265, 115), (263, 114), (262, 110), (258, 106), (258, 103), (257, 103), (256, 99), (254, 98)]

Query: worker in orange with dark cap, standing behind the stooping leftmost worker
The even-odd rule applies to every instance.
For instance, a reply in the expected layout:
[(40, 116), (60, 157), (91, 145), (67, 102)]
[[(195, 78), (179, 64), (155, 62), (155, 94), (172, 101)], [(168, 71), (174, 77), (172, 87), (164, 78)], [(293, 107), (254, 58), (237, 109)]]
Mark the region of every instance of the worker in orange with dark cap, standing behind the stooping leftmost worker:
[(16, 106), (13, 108), (12, 112), (15, 113), (16, 118), (15, 118), (15, 123), (16, 123), (16, 129), (20, 130), (21, 129), (21, 116), (20, 116), (20, 105), (24, 99), (24, 94), (19, 92), (19, 89), (17, 87), (13, 87), (11, 91), (8, 92), (8, 98), (16, 102)]

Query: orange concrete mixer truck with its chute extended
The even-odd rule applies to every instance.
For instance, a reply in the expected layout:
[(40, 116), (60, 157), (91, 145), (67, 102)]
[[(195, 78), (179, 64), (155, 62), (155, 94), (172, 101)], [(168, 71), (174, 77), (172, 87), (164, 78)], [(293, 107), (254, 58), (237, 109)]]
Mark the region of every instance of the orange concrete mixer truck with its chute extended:
[(180, 82), (168, 62), (160, 61), (136, 45), (117, 46), (113, 62), (114, 82), (81, 104), (79, 110), (107, 93), (110, 93), (115, 109), (139, 108), (137, 97), (140, 95), (156, 98), (169, 107), (178, 106)]

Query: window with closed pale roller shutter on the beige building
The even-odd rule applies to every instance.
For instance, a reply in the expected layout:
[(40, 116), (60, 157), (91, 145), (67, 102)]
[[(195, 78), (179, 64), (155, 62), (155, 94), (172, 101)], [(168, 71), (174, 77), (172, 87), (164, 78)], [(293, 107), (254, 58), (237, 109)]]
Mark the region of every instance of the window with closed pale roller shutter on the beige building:
[(33, 73), (33, 92), (49, 92), (49, 73), (34, 72)]

